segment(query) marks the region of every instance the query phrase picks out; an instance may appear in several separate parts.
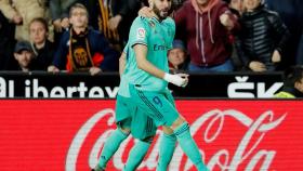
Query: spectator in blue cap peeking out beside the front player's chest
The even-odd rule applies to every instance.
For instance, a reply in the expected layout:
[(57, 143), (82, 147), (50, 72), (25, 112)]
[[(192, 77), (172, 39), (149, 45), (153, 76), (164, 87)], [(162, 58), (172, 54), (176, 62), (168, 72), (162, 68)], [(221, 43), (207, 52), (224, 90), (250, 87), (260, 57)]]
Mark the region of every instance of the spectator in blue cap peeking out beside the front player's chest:
[(170, 73), (176, 74), (186, 69), (186, 49), (181, 40), (174, 40), (172, 49), (168, 52)]

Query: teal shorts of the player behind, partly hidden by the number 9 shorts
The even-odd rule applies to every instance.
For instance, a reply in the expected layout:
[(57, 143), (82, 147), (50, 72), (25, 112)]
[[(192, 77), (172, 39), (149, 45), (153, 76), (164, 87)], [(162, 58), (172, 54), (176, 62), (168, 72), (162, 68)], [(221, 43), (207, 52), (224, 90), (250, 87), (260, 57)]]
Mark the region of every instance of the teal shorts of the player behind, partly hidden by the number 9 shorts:
[(154, 120), (144, 115), (130, 97), (117, 95), (116, 101), (116, 123), (120, 128), (128, 128), (135, 139), (143, 140), (154, 136), (157, 126)]

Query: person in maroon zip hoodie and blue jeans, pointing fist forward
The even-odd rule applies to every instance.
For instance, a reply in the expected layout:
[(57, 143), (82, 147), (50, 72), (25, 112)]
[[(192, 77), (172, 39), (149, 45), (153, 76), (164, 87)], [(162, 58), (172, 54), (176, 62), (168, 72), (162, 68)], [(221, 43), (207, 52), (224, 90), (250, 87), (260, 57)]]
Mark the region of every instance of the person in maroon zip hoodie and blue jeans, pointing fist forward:
[[(189, 71), (232, 71), (229, 31), (236, 17), (221, 0), (188, 0), (174, 13), (176, 35), (186, 38)], [(185, 31), (180, 31), (185, 30)], [(185, 35), (184, 35), (185, 34)]]

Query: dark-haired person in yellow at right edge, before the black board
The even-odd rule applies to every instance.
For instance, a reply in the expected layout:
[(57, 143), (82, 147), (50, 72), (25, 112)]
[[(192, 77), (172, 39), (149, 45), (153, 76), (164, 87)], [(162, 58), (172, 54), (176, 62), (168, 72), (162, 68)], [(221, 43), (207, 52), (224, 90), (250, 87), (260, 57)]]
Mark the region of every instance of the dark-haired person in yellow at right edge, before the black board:
[(286, 70), (282, 90), (275, 97), (303, 97), (303, 67), (293, 66)]

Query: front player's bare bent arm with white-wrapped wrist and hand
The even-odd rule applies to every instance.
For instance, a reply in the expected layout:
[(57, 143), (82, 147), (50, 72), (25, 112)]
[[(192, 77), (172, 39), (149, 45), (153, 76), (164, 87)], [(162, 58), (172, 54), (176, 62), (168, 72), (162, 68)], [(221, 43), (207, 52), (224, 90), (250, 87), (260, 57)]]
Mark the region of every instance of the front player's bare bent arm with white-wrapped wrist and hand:
[[(163, 70), (157, 68), (155, 65), (148, 62), (147, 57), (147, 47), (144, 44), (134, 44), (133, 47), (135, 52), (135, 58), (137, 67), (155, 77), (158, 77), (160, 79), (163, 79), (168, 82), (171, 82), (175, 86), (183, 87), (187, 84), (187, 78), (182, 75), (171, 75), (168, 73), (164, 73)], [(184, 77), (184, 78), (182, 78)]]

